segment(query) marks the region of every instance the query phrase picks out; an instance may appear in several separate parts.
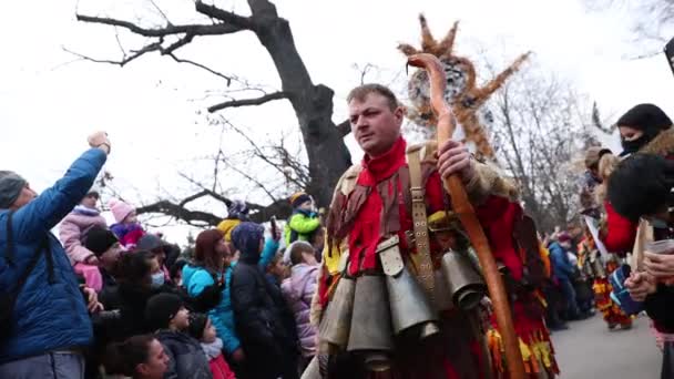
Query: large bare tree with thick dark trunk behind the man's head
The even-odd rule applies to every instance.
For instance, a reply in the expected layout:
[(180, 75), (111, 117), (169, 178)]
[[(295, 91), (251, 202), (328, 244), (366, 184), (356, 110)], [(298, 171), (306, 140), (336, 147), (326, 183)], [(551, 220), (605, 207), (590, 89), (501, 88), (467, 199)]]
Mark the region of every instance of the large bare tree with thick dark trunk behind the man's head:
[[(280, 79), (282, 89), (275, 92), (266, 92), (263, 89), (255, 88), (254, 90), (261, 92), (261, 95), (252, 99), (241, 99), (235, 91), (229, 91), (229, 99), (211, 105), (208, 112), (263, 105), (270, 101), (287, 100), (297, 117), (308, 164), (300, 164), (299, 161), (294, 160), (294, 155), (288, 154), (283, 146), (276, 146), (280, 147), (276, 150), (272, 147), (272, 151), (275, 151), (275, 155), (273, 154), (273, 158), (269, 158), (267, 163), (273, 167), (278, 167), (277, 163), (282, 164), (282, 167), (284, 165), (290, 167), (293, 175), (288, 173), (285, 176), (293, 178), (294, 187), (307, 191), (319, 205), (327, 205), (331, 197), (331, 188), (344, 171), (351, 164), (350, 154), (343, 140), (350, 132), (350, 125), (348, 121), (339, 124), (333, 122), (334, 91), (324, 84), (315, 84), (313, 82), (295, 47), (290, 24), (286, 19), (279, 17), (274, 3), (268, 0), (247, 0), (251, 16), (241, 16), (203, 1), (195, 1), (195, 17), (201, 21), (184, 24), (172, 23), (161, 12), (161, 9), (154, 2), (152, 3), (163, 16), (164, 24), (161, 27), (145, 27), (142, 21), (135, 23), (109, 17), (78, 13), (76, 18), (79, 21), (109, 25), (114, 28), (115, 31), (123, 30), (126, 33), (143, 37), (145, 42), (143, 45), (133, 49), (124, 48), (120, 42), (122, 58), (118, 60), (94, 59), (81, 53), (75, 54), (90, 61), (124, 66), (145, 54), (159, 53), (173, 59), (175, 62), (206, 70), (213, 75), (223, 79), (225, 81), (223, 84), (225, 90), (234, 82), (243, 84), (245, 89), (251, 89), (248, 83), (237, 75), (225, 74), (206, 64), (180, 57), (177, 53), (182, 48), (197, 38), (227, 35), (246, 31), (252, 32), (272, 58)], [(139, 19), (142, 20), (142, 17), (139, 17)], [(118, 38), (119, 41), (120, 39)], [(244, 91), (244, 93), (246, 92), (249, 91)], [(253, 142), (253, 140), (249, 139), (249, 142)], [(252, 144), (252, 154), (254, 156), (258, 158), (263, 156), (268, 157), (267, 148), (264, 150), (263, 154), (261, 146), (256, 146), (255, 144)], [(217, 157), (214, 158), (214, 162), (216, 165), (221, 163), (228, 165), (229, 168), (234, 167), (231, 164), (231, 160), (222, 154), (222, 150), (218, 152)], [(252, 175), (249, 178), (254, 180)], [(263, 186), (262, 188), (265, 187)], [(267, 195), (270, 194), (270, 192), (267, 193)], [(187, 208), (191, 202), (204, 196), (224, 203), (228, 201), (215, 187), (211, 187), (198, 190), (194, 194), (175, 202), (162, 199), (154, 204), (149, 204), (141, 207), (139, 212), (163, 213), (188, 223), (196, 222), (213, 225), (218, 216)], [(270, 205), (251, 204), (251, 206), (257, 211), (259, 217), (274, 214), (276, 212), (272, 211), (278, 211), (282, 207), (282, 202), (276, 196), (269, 196), (272, 198)]]

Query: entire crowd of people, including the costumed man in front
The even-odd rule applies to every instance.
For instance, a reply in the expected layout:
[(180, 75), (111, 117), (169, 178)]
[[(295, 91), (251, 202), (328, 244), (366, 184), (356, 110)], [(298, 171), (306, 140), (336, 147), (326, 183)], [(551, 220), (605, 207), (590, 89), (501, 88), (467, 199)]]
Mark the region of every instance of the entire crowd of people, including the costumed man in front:
[(451, 175), (489, 239), (528, 377), (560, 372), (550, 329), (594, 309), (611, 329), (645, 310), (663, 378), (674, 376), (674, 256), (653, 247), (674, 231), (662, 110), (617, 121), (621, 154), (588, 150), (583, 226), (542, 237), (513, 184), (461, 143), (407, 146), (389, 89), (359, 86), (348, 105), (365, 157), (328, 209), (297, 193), (284, 227), (265, 227), (233, 201), (187, 257), (123, 201), (108, 204), (114, 224), (101, 215), (91, 188), (105, 133), (42, 194), (0, 172), (0, 377), (508, 378), (503, 326), (443, 188)]

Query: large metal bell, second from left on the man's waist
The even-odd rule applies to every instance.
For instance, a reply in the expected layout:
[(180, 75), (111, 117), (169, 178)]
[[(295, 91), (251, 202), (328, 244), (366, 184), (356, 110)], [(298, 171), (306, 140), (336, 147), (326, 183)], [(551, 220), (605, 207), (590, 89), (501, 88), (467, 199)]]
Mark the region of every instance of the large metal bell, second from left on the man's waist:
[(389, 355), (392, 349), (391, 320), (384, 276), (360, 276), (356, 279), (347, 351), (361, 355), (370, 371), (386, 371), (390, 368)]

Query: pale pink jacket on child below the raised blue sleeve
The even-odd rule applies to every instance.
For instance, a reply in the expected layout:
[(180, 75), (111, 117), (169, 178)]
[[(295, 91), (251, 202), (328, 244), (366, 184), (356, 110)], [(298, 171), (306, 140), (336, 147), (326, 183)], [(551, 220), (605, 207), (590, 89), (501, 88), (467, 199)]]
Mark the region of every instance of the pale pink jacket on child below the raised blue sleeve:
[(99, 225), (106, 228), (105, 218), (94, 212), (88, 209), (89, 213), (75, 211), (71, 212), (63, 218), (59, 227), (59, 236), (65, 248), (65, 253), (70, 258), (70, 263), (74, 265), (78, 262), (84, 262), (89, 256), (93, 255), (86, 247), (82, 245), (82, 238), (93, 226)]

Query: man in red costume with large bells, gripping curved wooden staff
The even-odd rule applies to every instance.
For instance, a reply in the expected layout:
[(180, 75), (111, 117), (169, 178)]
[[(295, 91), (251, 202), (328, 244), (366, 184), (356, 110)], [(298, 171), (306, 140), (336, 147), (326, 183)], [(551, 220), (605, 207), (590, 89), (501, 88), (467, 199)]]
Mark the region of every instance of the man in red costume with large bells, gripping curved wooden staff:
[(458, 142), (408, 147), (405, 110), (389, 89), (362, 85), (347, 101), (365, 157), (338, 182), (327, 217), (312, 308), (323, 376), (507, 377), (494, 322), (479, 322), (483, 283), (469, 252), (451, 238), (429, 239), (427, 215), (450, 211), (441, 178), (453, 173), (502, 267), (527, 371), (556, 372), (535, 290), (544, 270), (535, 229), (513, 187)]

